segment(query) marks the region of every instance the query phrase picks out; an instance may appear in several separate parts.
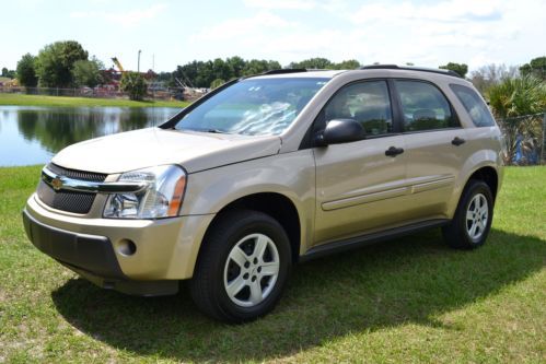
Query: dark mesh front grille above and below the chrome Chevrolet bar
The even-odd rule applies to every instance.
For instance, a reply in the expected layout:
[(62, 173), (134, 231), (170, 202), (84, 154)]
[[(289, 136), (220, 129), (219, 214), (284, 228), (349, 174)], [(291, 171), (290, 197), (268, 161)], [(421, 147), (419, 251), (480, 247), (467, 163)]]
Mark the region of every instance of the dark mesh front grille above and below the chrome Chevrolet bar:
[[(53, 163), (48, 164), (47, 168), (59, 176), (88, 181), (104, 181), (107, 176), (100, 173), (62, 168)], [(56, 191), (49, 185), (40, 180), (37, 189), (37, 195), (45, 204), (54, 209), (73, 213), (88, 213), (93, 206), (96, 193), (63, 190)]]

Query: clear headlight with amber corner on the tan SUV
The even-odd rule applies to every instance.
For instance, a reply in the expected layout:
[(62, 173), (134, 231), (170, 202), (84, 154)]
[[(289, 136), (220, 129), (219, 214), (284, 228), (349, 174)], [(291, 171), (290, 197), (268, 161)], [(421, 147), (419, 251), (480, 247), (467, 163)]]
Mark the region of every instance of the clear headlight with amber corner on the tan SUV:
[(178, 215), (186, 174), (175, 165), (124, 173), (118, 181), (143, 181), (148, 187), (135, 193), (111, 195), (104, 208), (104, 218), (156, 219)]

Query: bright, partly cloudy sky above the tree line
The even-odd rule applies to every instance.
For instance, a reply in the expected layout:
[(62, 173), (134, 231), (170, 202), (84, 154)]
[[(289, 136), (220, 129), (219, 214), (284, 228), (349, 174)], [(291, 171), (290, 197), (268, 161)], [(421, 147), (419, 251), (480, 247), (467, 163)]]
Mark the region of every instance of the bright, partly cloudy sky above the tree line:
[(241, 56), (438, 67), (523, 64), (546, 55), (545, 0), (12, 0), (0, 7), (0, 68), (78, 40), (106, 67), (172, 71)]

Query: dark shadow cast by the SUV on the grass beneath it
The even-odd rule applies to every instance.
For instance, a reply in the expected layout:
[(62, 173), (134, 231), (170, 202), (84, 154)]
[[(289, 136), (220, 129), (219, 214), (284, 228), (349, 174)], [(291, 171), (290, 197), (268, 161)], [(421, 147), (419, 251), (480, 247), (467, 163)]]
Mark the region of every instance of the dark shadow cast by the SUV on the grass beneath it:
[(279, 306), (242, 326), (202, 316), (184, 286), (141, 298), (74, 279), (51, 296), (68, 322), (116, 349), (184, 362), (263, 361), (355, 332), (443, 326), (438, 315), (524, 280), (545, 256), (546, 242), (532, 236), (493, 230), (483, 248), (458, 251), (426, 232), (298, 266)]

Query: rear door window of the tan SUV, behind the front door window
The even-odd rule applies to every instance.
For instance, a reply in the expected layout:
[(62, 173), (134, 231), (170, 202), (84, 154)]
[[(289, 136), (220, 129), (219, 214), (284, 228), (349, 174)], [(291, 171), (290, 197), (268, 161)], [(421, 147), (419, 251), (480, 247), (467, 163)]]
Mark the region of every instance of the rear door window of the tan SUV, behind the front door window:
[(458, 127), (445, 96), (430, 83), (420, 81), (395, 81), (402, 111), (404, 130), (420, 131)]

